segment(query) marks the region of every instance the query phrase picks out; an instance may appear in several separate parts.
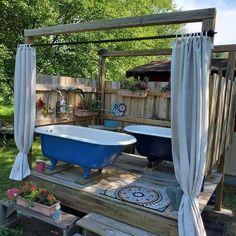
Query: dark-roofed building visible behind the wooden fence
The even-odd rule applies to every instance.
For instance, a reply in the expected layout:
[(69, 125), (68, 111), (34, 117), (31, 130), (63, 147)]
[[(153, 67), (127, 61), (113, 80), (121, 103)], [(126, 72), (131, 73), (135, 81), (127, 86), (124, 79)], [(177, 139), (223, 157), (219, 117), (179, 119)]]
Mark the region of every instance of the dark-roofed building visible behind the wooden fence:
[[(211, 73), (222, 73), (225, 76), (227, 69), (227, 59), (212, 59)], [(140, 78), (148, 77), (149, 81), (170, 82), (170, 61), (151, 61), (147, 64), (129, 69), (126, 71), (126, 77)], [(234, 72), (236, 76), (236, 68)], [(226, 154), (225, 174), (236, 176), (236, 118), (234, 125), (232, 144)]]

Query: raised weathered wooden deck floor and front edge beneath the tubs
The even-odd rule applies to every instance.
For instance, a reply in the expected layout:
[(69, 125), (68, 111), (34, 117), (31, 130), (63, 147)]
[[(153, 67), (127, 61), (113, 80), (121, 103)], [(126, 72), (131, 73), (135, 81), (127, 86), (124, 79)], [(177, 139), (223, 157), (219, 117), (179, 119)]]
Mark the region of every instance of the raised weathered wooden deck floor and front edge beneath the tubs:
[[(52, 174), (32, 171), (30, 179), (50, 188), (62, 204), (84, 213), (95, 212), (138, 228), (160, 235), (177, 235), (178, 212), (171, 205), (164, 212), (133, 203), (107, 197), (102, 193), (107, 188), (127, 184), (142, 184), (145, 187), (164, 188), (176, 183), (173, 166), (164, 163), (152, 170), (146, 168), (144, 157), (122, 154), (114, 166), (105, 168), (100, 177), (79, 184), (81, 169), (76, 166)], [(205, 180), (204, 192), (199, 196), (201, 211), (221, 180), (221, 174), (213, 173)]]

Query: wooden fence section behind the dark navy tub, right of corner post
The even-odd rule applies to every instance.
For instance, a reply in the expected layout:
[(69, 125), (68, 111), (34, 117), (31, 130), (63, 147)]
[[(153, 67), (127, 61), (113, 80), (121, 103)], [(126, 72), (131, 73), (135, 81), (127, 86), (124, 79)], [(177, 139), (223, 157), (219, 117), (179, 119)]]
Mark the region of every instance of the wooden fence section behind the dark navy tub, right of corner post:
[[(132, 97), (119, 95), (119, 82), (105, 82), (104, 119), (121, 121), (121, 126), (127, 124), (150, 124), (170, 127), (170, 92), (162, 92), (168, 82), (148, 82), (147, 97)], [(113, 103), (124, 103), (124, 116), (115, 116), (111, 107)]]

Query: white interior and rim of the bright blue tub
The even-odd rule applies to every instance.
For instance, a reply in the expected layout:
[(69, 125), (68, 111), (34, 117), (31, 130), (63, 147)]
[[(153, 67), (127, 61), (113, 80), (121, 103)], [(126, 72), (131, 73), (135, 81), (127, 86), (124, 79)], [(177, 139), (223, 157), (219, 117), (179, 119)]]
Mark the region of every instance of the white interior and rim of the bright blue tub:
[(136, 138), (129, 134), (75, 125), (42, 126), (35, 132), (99, 145), (129, 145), (136, 142)]

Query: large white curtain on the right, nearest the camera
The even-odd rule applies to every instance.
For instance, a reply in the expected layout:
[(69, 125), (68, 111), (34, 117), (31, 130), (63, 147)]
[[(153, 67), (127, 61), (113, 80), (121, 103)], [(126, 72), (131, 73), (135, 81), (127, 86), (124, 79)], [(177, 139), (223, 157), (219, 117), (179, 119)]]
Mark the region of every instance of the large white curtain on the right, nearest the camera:
[(207, 36), (193, 35), (176, 39), (172, 49), (172, 155), (184, 192), (178, 212), (181, 236), (206, 235), (198, 195), (207, 151), (211, 46)]

